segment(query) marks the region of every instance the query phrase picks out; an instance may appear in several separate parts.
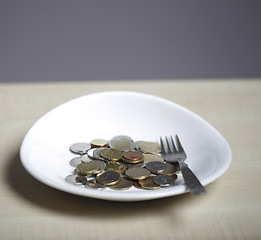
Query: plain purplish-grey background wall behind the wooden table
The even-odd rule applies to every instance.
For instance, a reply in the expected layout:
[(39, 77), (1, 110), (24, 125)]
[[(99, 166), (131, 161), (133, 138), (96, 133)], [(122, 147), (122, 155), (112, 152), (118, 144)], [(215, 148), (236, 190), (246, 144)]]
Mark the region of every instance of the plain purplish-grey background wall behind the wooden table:
[(261, 1), (0, 1), (0, 81), (261, 77)]

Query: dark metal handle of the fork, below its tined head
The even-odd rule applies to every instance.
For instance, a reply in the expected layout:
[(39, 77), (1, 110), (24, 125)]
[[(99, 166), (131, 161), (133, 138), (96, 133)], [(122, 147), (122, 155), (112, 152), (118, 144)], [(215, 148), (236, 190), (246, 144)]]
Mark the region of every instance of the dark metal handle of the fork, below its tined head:
[(183, 175), (185, 184), (189, 191), (195, 195), (206, 193), (206, 189), (202, 186), (196, 175), (191, 171), (188, 165), (179, 161), (181, 173)]

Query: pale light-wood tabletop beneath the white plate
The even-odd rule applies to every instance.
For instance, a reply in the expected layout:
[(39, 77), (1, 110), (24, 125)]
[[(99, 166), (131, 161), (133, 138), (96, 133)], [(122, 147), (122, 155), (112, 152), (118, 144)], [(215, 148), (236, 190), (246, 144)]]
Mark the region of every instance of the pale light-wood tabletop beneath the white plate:
[[(0, 85), (0, 239), (261, 239), (261, 79)], [(53, 107), (110, 90), (153, 94), (211, 123), (232, 148), (230, 168), (206, 187), (144, 202), (61, 192), (22, 167), (28, 129)]]

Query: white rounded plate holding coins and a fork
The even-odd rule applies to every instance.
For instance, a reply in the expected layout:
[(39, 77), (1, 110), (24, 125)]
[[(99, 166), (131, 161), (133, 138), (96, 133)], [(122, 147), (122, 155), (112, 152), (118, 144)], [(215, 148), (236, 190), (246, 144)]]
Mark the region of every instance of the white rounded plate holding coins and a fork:
[(135, 92), (102, 92), (71, 100), (41, 117), (28, 131), (20, 149), (25, 169), (56, 189), (86, 197), (141, 201), (186, 192), (178, 185), (158, 190), (132, 187), (125, 191), (87, 189), (65, 182), (75, 154), (71, 144), (128, 135), (134, 140), (159, 142), (160, 136), (178, 134), (187, 152), (186, 162), (205, 186), (220, 177), (231, 162), (224, 137), (193, 112), (159, 97)]

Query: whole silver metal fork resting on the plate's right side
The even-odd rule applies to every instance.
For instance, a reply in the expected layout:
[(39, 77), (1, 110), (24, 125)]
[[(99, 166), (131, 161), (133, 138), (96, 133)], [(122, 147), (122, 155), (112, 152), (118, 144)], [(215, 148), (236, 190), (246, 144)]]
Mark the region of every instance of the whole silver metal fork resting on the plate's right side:
[(170, 137), (170, 140), (165, 137), (165, 141), (166, 145), (164, 145), (162, 138), (160, 138), (161, 155), (165, 161), (169, 163), (179, 163), (185, 184), (191, 193), (196, 195), (206, 193), (206, 189), (202, 186), (196, 175), (184, 162), (187, 159), (187, 155), (179, 141), (178, 135), (176, 135), (177, 146), (175, 146), (172, 137)]

